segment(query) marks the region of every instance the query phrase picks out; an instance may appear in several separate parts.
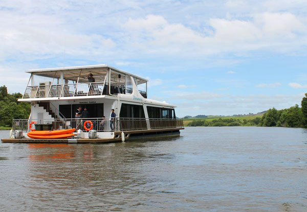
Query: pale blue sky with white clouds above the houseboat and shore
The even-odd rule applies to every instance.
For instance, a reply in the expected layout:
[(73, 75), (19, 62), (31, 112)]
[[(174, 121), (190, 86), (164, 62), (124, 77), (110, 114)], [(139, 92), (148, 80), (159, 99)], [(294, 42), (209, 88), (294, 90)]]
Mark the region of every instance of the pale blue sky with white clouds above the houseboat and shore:
[(0, 85), (28, 69), (108, 64), (149, 80), (176, 115), (300, 105), (307, 1), (0, 1)]

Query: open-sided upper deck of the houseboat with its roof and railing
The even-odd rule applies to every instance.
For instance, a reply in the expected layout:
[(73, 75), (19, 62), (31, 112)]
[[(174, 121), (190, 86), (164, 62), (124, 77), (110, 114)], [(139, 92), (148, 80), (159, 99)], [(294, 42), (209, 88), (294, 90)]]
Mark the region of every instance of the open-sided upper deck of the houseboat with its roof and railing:
[[(140, 94), (147, 98), (146, 79), (106, 64), (31, 69), (27, 73), (31, 77), (24, 96), (19, 101), (129, 94), (134, 89), (133, 81)], [(90, 74), (93, 78), (89, 78)]]

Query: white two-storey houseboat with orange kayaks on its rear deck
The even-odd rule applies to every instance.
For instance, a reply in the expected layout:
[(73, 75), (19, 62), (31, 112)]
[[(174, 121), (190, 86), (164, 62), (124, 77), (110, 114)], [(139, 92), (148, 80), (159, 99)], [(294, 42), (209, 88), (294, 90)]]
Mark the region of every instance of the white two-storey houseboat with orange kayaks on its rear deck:
[(13, 120), (10, 138), (2, 142), (120, 142), (178, 136), (184, 129), (176, 106), (147, 98), (146, 79), (109, 65), (27, 73), (31, 76), (18, 101), (30, 102), (31, 114), (28, 120)]

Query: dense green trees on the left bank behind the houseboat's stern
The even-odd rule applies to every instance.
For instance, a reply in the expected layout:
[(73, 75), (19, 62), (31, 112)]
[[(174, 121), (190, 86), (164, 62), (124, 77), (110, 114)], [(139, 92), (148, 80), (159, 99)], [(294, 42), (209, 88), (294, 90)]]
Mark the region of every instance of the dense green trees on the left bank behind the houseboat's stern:
[(28, 119), (31, 112), (29, 102), (17, 102), (22, 98), (21, 93), (8, 93), (7, 87), (0, 87), (0, 128), (12, 127), (13, 119)]

